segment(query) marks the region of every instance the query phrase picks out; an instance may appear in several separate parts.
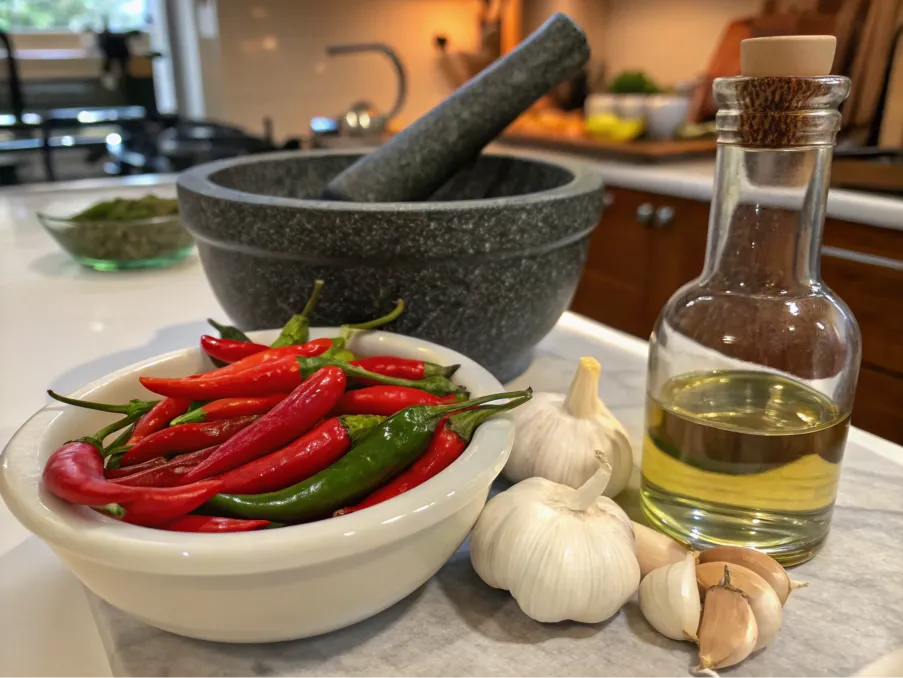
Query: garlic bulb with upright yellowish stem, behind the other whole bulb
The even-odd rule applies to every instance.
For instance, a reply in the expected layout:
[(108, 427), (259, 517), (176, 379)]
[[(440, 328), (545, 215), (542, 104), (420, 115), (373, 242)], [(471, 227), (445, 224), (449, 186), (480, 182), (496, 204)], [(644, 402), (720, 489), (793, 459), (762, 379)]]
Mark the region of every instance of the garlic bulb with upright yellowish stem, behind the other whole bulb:
[(612, 466), (605, 496), (624, 489), (633, 470), (633, 452), (624, 427), (599, 400), (601, 369), (595, 358), (580, 358), (566, 396), (534, 393), (514, 411), (517, 436), (502, 471), (508, 480), (539, 477), (580, 487), (598, 469), (595, 450), (602, 450)]

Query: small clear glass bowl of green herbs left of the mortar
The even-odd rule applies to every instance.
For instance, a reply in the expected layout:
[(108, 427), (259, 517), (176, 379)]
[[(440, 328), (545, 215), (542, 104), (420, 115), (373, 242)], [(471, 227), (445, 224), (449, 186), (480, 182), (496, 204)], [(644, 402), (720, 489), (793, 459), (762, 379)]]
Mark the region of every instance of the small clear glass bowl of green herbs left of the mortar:
[(98, 271), (169, 266), (194, 248), (174, 198), (114, 198), (75, 214), (51, 207), (38, 220), (73, 259)]

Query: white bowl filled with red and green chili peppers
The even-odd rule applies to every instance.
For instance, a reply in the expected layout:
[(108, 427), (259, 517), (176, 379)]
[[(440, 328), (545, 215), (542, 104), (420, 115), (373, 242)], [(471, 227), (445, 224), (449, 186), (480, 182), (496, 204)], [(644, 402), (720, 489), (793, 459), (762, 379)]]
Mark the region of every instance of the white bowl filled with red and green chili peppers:
[(88, 589), (173, 633), (281, 641), (389, 607), (466, 538), (530, 394), (420, 339), (286, 344), (291, 324), (58, 396), (79, 406), (19, 429), (0, 495)]

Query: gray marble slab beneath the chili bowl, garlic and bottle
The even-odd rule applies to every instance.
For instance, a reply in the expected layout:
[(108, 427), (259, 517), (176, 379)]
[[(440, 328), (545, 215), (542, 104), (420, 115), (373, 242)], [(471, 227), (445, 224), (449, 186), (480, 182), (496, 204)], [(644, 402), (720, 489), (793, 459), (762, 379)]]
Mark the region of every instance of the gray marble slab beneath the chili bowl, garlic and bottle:
[[(512, 386), (564, 391), (581, 355), (602, 362), (601, 395), (637, 447), (645, 384), (640, 342), (565, 316)], [(824, 551), (794, 570), (809, 588), (791, 596), (773, 645), (724, 678), (850, 678), (903, 645), (903, 450), (891, 449), (901, 457), (895, 462), (868, 441), (847, 447)], [(635, 477), (619, 497), (629, 511), (636, 510), (636, 486)], [(180, 638), (89, 597), (115, 678), (683, 678), (694, 659), (692, 645), (652, 631), (634, 602), (602, 624), (533, 622), (510, 596), (477, 578), (466, 545), (382, 614), (289, 643)]]

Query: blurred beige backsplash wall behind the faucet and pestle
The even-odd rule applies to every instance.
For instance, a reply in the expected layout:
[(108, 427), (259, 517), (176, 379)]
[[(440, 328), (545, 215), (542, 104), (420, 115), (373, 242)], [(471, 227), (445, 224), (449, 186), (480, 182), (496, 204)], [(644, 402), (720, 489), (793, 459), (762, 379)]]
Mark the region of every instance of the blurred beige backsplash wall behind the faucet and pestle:
[[(585, 27), (594, 62), (609, 74), (643, 69), (674, 84), (699, 74), (727, 23), (757, 12), (762, 0), (524, 3), (528, 31), (555, 11), (566, 12)], [(394, 75), (384, 58), (324, 54), (329, 44), (382, 41), (408, 70), (408, 100), (397, 121), (406, 124), (452, 89), (433, 36), (448, 36), (452, 49), (474, 49), (479, 6), (480, 0), (219, 0), (222, 86), (218, 100), (208, 101), (208, 114), (255, 132), (270, 115), (277, 138), (284, 138), (306, 133), (313, 116), (339, 114), (359, 99), (385, 111)], [(215, 58), (208, 52), (205, 59)], [(211, 66), (207, 75), (216, 70)]]

